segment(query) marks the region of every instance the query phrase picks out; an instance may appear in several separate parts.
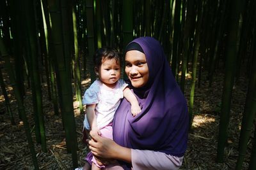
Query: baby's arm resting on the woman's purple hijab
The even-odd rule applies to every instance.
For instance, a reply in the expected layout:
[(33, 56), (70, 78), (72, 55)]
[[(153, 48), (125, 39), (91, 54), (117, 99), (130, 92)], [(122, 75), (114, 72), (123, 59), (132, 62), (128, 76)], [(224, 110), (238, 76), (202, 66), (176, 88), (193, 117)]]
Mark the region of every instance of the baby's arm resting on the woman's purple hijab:
[(127, 101), (131, 103), (131, 112), (132, 112), (132, 115), (135, 117), (141, 111), (137, 98), (134, 96), (134, 94), (128, 87), (124, 89), (123, 93), (124, 93), (125, 99), (127, 99)]

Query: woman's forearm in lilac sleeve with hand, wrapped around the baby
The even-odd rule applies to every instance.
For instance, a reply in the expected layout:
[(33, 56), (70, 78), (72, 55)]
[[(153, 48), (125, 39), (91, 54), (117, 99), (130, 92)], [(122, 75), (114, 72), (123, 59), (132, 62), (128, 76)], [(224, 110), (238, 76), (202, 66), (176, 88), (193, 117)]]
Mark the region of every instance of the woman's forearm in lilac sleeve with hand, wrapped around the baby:
[(134, 150), (125, 148), (108, 138), (92, 135), (89, 148), (100, 160), (116, 159), (132, 164), (133, 169), (172, 169), (182, 165), (183, 157), (174, 157), (152, 150)]

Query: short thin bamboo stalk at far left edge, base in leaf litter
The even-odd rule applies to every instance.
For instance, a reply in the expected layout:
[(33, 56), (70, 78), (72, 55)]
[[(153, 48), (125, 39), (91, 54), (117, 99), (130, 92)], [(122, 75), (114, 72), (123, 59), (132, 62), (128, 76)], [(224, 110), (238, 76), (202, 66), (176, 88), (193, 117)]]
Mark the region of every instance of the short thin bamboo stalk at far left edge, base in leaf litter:
[(8, 95), (7, 95), (6, 88), (5, 88), (5, 84), (4, 84), (2, 68), (0, 68), (0, 85), (1, 85), (1, 89), (2, 89), (3, 96), (4, 96), (5, 107), (6, 107), (7, 113), (8, 113), (9, 116), (10, 116), (11, 124), (12, 124), (12, 125), (15, 125), (15, 121), (14, 121), (12, 109), (11, 109), (11, 106), (10, 106), (9, 97), (8, 97)]

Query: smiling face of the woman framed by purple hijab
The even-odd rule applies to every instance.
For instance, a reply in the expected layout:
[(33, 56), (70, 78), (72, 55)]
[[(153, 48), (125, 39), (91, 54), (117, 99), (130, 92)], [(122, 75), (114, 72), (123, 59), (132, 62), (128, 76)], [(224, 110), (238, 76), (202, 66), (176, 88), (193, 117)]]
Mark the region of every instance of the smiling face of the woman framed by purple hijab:
[(125, 73), (133, 87), (143, 87), (149, 78), (145, 54), (137, 50), (128, 51), (125, 54)]

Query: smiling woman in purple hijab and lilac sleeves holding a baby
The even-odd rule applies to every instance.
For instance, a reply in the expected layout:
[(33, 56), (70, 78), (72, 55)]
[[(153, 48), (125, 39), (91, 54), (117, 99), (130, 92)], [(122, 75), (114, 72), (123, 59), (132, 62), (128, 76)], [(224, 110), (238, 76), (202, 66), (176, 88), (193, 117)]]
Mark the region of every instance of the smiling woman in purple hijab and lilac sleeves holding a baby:
[(132, 117), (123, 99), (113, 120), (113, 141), (92, 135), (89, 148), (102, 161), (118, 160), (123, 169), (179, 169), (188, 141), (188, 110), (160, 43), (150, 37), (129, 43), (125, 73), (141, 112)]

